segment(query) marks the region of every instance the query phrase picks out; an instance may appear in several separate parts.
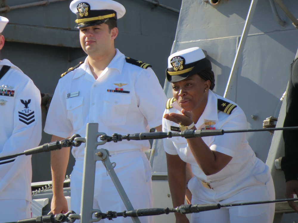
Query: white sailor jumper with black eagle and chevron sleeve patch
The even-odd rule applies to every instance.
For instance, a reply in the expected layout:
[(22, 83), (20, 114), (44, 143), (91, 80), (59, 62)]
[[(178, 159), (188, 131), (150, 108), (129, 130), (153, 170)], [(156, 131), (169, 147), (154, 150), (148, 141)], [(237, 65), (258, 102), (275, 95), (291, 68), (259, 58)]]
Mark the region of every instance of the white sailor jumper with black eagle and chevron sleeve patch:
[[(33, 81), (9, 60), (11, 66), (0, 79), (0, 156), (24, 152), (37, 147), (41, 140), (41, 95)], [(3, 95), (3, 86), (14, 96)], [(2, 89), (2, 90), (1, 90)], [(0, 160), (0, 199), (32, 200), (31, 156)]]

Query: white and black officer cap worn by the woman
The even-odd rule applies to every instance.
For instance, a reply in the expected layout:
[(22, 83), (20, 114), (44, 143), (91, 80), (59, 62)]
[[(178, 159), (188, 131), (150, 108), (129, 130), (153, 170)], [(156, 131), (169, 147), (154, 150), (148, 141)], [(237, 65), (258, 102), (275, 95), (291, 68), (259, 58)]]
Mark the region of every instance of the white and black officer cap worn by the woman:
[(166, 76), (169, 82), (177, 82), (208, 68), (212, 69), (211, 62), (202, 49), (193, 47), (169, 56)]

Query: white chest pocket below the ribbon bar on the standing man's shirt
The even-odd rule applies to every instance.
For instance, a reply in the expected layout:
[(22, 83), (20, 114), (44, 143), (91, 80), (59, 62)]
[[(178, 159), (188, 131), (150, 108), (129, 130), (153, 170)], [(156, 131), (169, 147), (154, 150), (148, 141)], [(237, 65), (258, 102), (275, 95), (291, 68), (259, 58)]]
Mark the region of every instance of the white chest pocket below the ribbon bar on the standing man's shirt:
[(131, 95), (106, 93), (103, 96), (103, 123), (105, 125), (124, 125)]

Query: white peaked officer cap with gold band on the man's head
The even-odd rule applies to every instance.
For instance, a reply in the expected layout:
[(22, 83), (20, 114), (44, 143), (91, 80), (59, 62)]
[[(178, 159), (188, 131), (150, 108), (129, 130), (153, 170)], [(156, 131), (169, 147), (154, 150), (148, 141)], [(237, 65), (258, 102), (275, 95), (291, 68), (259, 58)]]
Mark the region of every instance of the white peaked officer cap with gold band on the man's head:
[(124, 6), (112, 0), (73, 0), (69, 8), (77, 15), (76, 28), (99, 25), (108, 19), (117, 20), (125, 14)]

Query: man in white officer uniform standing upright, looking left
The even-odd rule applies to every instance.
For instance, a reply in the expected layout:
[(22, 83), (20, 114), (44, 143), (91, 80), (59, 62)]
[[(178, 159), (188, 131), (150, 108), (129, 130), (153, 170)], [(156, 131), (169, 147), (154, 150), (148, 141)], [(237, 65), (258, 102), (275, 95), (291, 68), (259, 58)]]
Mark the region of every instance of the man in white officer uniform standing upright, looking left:
[[(124, 6), (111, 0), (74, 0), (70, 9), (77, 14), (80, 43), (88, 56), (59, 80), (44, 131), (53, 135), (52, 141), (72, 134), (85, 137), (87, 123), (99, 123), (98, 131), (110, 136), (149, 132), (150, 128), (161, 131), (167, 98), (151, 65), (125, 57), (114, 48), (116, 20), (125, 14)], [(84, 146), (72, 148), (75, 166), (71, 173), (71, 210), (76, 213), (80, 213)], [(150, 148), (149, 142), (110, 142), (103, 148), (109, 150), (111, 162), (117, 164), (115, 172), (132, 206), (152, 208), (151, 166), (144, 153)], [(69, 210), (63, 195), (69, 151), (63, 148), (51, 152), (54, 214)], [(102, 162), (97, 162), (95, 181), (94, 208), (103, 213), (126, 210)], [(132, 220), (118, 217), (114, 222)]]

